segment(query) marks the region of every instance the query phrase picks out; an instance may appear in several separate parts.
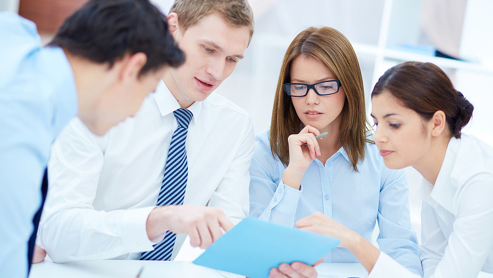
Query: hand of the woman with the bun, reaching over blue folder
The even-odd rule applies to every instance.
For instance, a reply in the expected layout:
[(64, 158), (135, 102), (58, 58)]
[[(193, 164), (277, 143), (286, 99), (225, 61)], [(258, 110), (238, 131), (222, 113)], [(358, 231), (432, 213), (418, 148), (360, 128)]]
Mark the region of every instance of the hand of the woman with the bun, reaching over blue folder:
[(356, 232), (344, 227), (318, 211), (308, 217), (296, 221), (294, 225), (305, 231), (338, 238), (341, 240), (339, 246), (346, 248), (351, 246), (352, 243), (360, 237)]

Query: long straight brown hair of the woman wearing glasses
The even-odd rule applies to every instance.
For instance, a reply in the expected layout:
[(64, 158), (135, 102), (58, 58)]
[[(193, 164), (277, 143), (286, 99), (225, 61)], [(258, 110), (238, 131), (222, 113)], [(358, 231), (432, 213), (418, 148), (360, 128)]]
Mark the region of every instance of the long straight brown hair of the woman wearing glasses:
[(339, 31), (329, 27), (305, 29), (294, 38), (286, 50), (272, 109), (272, 154), (278, 156), (282, 163), (288, 164), (287, 137), (299, 133), (303, 125), (296, 114), (291, 97), (286, 95), (282, 88), (282, 84), (291, 81), (291, 64), (300, 55), (323, 63), (341, 81), (346, 100), (341, 112), (340, 140), (354, 171), (357, 171), (356, 164), (365, 156), (365, 144), (371, 142), (366, 137), (370, 125), (366, 119), (363, 79), (351, 43)]

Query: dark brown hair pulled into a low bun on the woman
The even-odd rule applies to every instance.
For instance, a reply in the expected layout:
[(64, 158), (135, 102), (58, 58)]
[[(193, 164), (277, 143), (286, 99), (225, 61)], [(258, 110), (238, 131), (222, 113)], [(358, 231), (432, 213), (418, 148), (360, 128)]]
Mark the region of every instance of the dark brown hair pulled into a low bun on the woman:
[(460, 129), (469, 122), (474, 110), (447, 75), (432, 63), (405, 62), (391, 67), (378, 79), (371, 96), (384, 91), (423, 119), (429, 120), (435, 112), (443, 111), (451, 137), (460, 138)]

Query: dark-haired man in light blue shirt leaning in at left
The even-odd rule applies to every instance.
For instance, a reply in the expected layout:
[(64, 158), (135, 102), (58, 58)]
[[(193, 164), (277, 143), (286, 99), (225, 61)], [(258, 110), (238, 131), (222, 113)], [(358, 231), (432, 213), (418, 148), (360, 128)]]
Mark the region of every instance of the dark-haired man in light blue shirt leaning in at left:
[(0, 26), (0, 277), (27, 277), (55, 137), (74, 116), (98, 135), (134, 116), (184, 55), (148, 0), (91, 0), (47, 47), (16, 14)]

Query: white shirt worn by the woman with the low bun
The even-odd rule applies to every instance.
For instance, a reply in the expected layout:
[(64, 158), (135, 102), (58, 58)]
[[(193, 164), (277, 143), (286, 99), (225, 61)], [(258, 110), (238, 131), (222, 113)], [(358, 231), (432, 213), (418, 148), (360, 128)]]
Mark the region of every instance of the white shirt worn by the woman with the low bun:
[[(435, 185), (423, 179), (420, 246), (424, 277), (493, 273), (493, 148), (473, 136), (452, 138)], [(383, 252), (371, 277), (418, 277)]]

